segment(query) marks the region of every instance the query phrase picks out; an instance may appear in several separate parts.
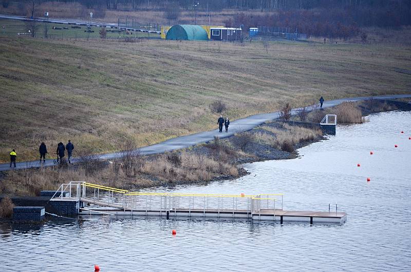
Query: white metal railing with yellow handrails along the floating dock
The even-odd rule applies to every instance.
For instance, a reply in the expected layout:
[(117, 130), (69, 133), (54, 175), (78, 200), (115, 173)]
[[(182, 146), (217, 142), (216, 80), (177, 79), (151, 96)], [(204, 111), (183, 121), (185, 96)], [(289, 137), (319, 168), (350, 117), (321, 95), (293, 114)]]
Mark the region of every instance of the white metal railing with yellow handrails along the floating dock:
[(71, 181), (62, 184), (54, 193), (68, 191), (68, 197), (101, 207), (145, 211), (244, 211), (259, 213), (264, 210), (282, 210), (283, 194), (224, 195), (172, 192), (129, 192), (87, 182)]

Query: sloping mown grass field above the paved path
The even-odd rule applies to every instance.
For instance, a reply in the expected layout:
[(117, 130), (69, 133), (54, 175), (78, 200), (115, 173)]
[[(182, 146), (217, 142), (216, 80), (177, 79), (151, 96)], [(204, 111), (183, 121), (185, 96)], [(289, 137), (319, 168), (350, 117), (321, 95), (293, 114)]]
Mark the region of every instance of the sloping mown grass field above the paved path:
[[(268, 53), (267, 53), (268, 51)], [(49, 153), (71, 139), (77, 155), (215, 128), (231, 120), (347, 96), (410, 93), (408, 47), (272, 42), (243, 45), (0, 34), (0, 160)], [(54, 152), (52, 152), (54, 153)]]

